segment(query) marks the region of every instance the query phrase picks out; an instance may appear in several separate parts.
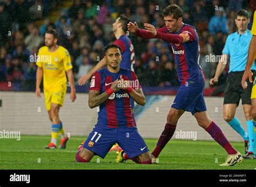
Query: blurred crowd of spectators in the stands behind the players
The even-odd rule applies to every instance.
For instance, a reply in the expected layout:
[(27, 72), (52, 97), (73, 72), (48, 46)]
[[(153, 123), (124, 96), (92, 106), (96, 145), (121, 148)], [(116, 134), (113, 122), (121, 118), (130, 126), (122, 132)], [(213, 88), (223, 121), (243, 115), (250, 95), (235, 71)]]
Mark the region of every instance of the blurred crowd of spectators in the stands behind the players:
[[(35, 90), (36, 63), (31, 55), (44, 46), (44, 33), (58, 31), (58, 44), (68, 49), (76, 82), (102, 59), (104, 46), (115, 40), (112, 24), (120, 14), (136, 21), (139, 28), (150, 23), (164, 26), (161, 11), (178, 4), (183, 22), (196, 27), (200, 44), (200, 66), (208, 80), (218, 61), (207, 55), (221, 55), (228, 34), (236, 31), (235, 12), (245, 9), (252, 16), (254, 0), (2, 0), (0, 1), (0, 82), (12, 82), (18, 90)], [(170, 45), (159, 39), (144, 40), (130, 34), (136, 62), (134, 71), (144, 87), (178, 87), (176, 65)], [(217, 87), (225, 84), (228, 66)], [(1, 84), (0, 84), (1, 85)], [(2, 84), (3, 85), (3, 84)], [(3, 87), (0, 90), (3, 90)], [(212, 90), (210, 95), (218, 95)]]

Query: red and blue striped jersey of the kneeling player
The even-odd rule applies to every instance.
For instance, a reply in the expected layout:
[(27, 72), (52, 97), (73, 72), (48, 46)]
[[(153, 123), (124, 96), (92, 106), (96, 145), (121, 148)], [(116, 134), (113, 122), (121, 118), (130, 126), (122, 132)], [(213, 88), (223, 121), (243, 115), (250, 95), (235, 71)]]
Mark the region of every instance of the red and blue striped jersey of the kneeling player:
[[(137, 76), (133, 71), (120, 68), (118, 73), (111, 73), (107, 67), (96, 71), (91, 78), (90, 90), (98, 90), (100, 94), (111, 87), (111, 83), (120, 80), (130, 81), (133, 89), (140, 89)], [(130, 94), (120, 89), (99, 105), (97, 125), (109, 128), (134, 127)]]

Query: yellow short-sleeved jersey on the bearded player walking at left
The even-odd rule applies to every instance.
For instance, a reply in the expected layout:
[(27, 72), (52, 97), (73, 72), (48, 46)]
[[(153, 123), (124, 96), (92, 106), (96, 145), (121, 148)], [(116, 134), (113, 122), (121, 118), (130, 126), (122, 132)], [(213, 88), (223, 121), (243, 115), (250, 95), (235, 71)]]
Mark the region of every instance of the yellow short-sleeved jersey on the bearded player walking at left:
[(50, 90), (67, 83), (66, 72), (72, 69), (70, 54), (67, 49), (58, 46), (50, 52), (47, 46), (39, 49), (36, 64), (43, 68), (44, 89)]

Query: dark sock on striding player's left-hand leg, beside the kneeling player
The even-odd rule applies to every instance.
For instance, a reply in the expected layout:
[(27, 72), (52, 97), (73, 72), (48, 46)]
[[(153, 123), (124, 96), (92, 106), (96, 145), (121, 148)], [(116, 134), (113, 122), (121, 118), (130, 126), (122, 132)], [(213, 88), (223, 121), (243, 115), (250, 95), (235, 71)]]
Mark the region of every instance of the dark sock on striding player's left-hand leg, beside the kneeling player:
[(161, 150), (163, 150), (163, 148), (165, 147), (165, 145), (169, 142), (169, 140), (172, 138), (175, 130), (176, 130), (176, 126), (174, 124), (165, 124), (164, 127), (164, 131), (161, 133), (158, 142), (157, 142), (157, 146), (156, 148), (154, 148), (152, 155), (154, 157), (158, 157), (159, 154), (161, 153)]

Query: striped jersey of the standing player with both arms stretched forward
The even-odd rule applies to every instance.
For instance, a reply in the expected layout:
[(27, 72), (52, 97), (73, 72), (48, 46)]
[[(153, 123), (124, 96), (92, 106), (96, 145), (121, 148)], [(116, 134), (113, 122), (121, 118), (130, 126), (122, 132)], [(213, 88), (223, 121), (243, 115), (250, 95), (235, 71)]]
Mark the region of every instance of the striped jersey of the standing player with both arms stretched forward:
[[(186, 35), (185, 42), (183, 42), (184, 38), (179, 35), (181, 33)], [(169, 32), (168, 28), (163, 26), (157, 30), (156, 35), (139, 28), (135, 34), (142, 38), (159, 38), (170, 43), (181, 85), (187, 83), (205, 84), (205, 76), (199, 66), (199, 39), (193, 26), (184, 24), (178, 32)]]

